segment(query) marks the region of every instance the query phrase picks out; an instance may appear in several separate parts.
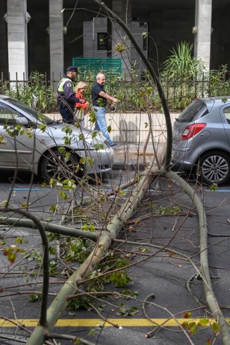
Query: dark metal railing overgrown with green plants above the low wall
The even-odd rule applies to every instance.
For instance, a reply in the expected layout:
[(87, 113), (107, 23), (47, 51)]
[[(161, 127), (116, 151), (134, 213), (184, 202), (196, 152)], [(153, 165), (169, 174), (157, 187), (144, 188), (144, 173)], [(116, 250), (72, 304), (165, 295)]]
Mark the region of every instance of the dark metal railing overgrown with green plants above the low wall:
[[(221, 71), (209, 71), (197, 73), (195, 77), (186, 79), (174, 77), (168, 79), (161, 77), (161, 85), (164, 90), (168, 105), (173, 111), (181, 111), (192, 99), (197, 97), (226, 96), (230, 95), (230, 83), (226, 79), (228, 73)], [(9, 95), (28, 105), (34, 104), (37, 100), (37, 108), (43, 112), (56, 111), (56, 88), (62, 73), (58, 79), (52, 74), (48, 77), (47, 73), (33, 72), (29, 78), (18, 78), (18, 73), (12, 79), (10, 74), (4, 78), (3, 72), (0, 73), (0, 94)], [(79, 75), (79, 80), (87, 83), (86, 99), (91, 99), (91, 86), (94, 73), (84, 73)], [(123, 112), (137, 112), (150, 110), (159, 111), (161, 102), (158, 98), (155, 84), (148, 75), (141, 78), (133, 75), (131, 80), (120, 76), (107, 76), (106, 90), (110, 95), (115, 96), (122, 102), (116, 110)], [(148, 90), (151, 90), (150, 92)]]

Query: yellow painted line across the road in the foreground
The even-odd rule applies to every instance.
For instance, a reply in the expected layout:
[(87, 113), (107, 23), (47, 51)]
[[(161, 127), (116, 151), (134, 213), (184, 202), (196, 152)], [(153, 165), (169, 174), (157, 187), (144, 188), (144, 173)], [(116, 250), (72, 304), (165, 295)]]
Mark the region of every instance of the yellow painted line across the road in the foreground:
[[(179, 318), (177, 319), (177, 321), (182, 324), (183, 322), (195, 322), (196, 324), (199, 323), (201, 318)], [(159, 325), (163, 322), (166, 321), (166, 319), (159, 319), (159, 318), (154, 318), (151, 319), (153, 321), (153, 323), (148, 320), (148, 319), (143, 319), (143, 318), (114, 318), (114, 319), (108, 319), (108, 321), (113, 322), (114, 324), (117, 324), (118, 326), (122, 326), (122, 327), (148, 327), (148, 326), (154, 326), (155, 325)], [(208, 319), (210, 323), (212, 323), (214, 321), (214, 319), (210, 318)], [(228, 319), (229, 321), (230, 319)], [(14, 320), (12, 319), (12, 322), (17, 323), (17, 325), (15, 325), (14, 323), (6, 321), (6, 320), (2, 320), (0, 319), (0, 327), (17, 327), (18, 325), (23, 325), (25, 327), (35, 327), (38, 324), (38, 319), (17, 319)], [(97, 327), (103, 324), (103, 320), (102, 319), (59, 319), (56, 322), (56, 327)], [(105, 325), (106, 327), (113, 327), (113, 325), (111, 325), (109, 322), (106, 322)], [(178, 323), (174, 320), (168, 320), (166, 321), (166, 323), (164, 324), (164, 326), (166, 327), (178, 327)]]

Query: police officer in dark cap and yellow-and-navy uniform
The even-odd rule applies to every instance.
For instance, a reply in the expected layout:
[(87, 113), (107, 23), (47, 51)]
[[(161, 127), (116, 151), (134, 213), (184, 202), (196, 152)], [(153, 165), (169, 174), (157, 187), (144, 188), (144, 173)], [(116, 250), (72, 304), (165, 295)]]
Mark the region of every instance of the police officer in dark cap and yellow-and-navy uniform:
[(59, 81), (57, 89), (57, 102), (59, 112), (62, 115), (62, 121), (69, 124), (74, 124), (74, 110), (76, 103), (85, 103), (75, 96), (74, 81), (77, 77), (78, 69), (74, 66), (69, 66), (66, 75)]

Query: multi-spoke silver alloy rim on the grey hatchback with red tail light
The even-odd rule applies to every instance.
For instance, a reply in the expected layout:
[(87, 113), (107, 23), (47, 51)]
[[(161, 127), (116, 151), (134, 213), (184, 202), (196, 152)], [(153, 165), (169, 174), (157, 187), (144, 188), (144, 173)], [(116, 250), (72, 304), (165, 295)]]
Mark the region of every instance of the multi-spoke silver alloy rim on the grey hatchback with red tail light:
[(221, 156), (210, 156), (203, 162), (201, 171), (206, 180), (217, 183), (228, 175), (229, 165)]

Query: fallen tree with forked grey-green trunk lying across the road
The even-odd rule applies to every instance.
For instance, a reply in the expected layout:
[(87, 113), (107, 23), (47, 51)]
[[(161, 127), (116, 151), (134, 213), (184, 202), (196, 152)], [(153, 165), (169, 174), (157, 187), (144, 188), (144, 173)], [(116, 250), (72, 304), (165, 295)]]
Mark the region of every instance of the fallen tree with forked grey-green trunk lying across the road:
[[(204, 290), (205, 290), (207, 302), (210, 306), (210, 309), (213, 312), (214, 317), (216, 318), (217, 322), (220, 324), (220, 331), (223, 336), (224, 344), (226, 345), (230, 344), (230, 333), (229, 333), (228, 325), (218, 306), (217, 300), (211, 288), (211, 281), (210, 281), (209, 269), (208, 269), (208, 257), (207, 257), (208, 255), (207, 253), (207, 226), (206, 226), (206, 218), (205, 218), (205, 212), (204, 212), (203, 206), (200, 204), (198, 196), (188, 186), (188, 184), (183, 179), (179, 178), (179, 176), (177, 176), (175, 173), (172, 173), (170, 171), (170, 158), (171, 158), (171, 149), (172, 149), (172, 128), (171, 128), (170, 114), (167, 108), (167, 104), (164, 98), (162, 88), (154, 73), (153, 68), (149, 64), (146, 57), (143, 56), (144, 54), (142, 54), (141, 49), (137, 45), (133, 35), (125, 26), (125, 24), (110, 9), (108, 9), (108, 7), (106, 7), (103, 2), (100, 2), (98, 0), (94, 0), (94, 2), (98, 3), (99, 6), (101, 6), (104, 10), (106, 10), (106, 12), (109, 13), (110, 16), (114, 20), (116, 20), (122, 26), (122, 28), (126, 31), (127, 35), (129, 36), (130, 40), (134, 44), (138, 53), (143, 58), (143, 61), (145, 62), (147, 68), (150, 71), (151, 76), (153, 77), (153, 80), (155, 81), (157, 85), (157, 89), (158, 89), (158, 92), (162, 101), (162, 105), (164, 108), (166, 127), (167, 127), (168, 141), (167, 141), (165, 160), (164, 160), (164, 165), (162, 168), (162, 163), (163, 163), (162, 157), (158, 157), (157, 166), (149, 168), (143, 174), (141, 178), (138, 177), (137, 179), (135, 178), (132, 181), (132, 182), (136, 182), (138, 180), (135, 191), (133, 191), (133, 193), (128, 198), (128, 200), (124, 203), (124, 205), (120, 207), (119, 211), (108, 223), (106, 229), (101, 229), (98, 233), (95, 233), (93, 235), (87, 235), (94, 241), (97, 241), (94, 249), (92, 250), (92, 253), (88, 256), (86, 261), (77, 269), (77, 271), (72, 276), (70, 276), (67, 282), (63, 285), (62, 289), (60, 290), (60, 292), (58, 293), (54, 301), (51, 303), (50, 307), (47, 309), (46, 319), (44, 319), (44, 317), (40, 317), (39, 324), (34, 329), (27, 344), (39, 345), (39, 344), (43, 344), (47, 338), (55, 337), (55, 334), (51, 333), (51, 330), (56, 320), (60, 317), (61, 313), (68, 306), (68, 303), (69, 303), (68, 296), (73, 295), (75, 291), (77, 291), (77, 287), (81, 283), (81, 281), (85, 279), (89, 275), (89, 273), (92, 272), (92, 270), (96, 267), (96, 265), (100, 262), (100, 260), (105, 257), (107, 250), (110, 248), (111, 244), (113, 243), (113, 241), (119, 234), (120, 230), (125, 224), (125, 221), (128, 220), (129, 217), (133, 214), (135, 207), (137, 207), (137, 205), (141, 203), (144, 196), (146, 195), (147, 189), (153, 182), (154, 176), (159, 173), (162, 175), (165, 175), (167, 178), (169, 178), (170, 180), (178, 184), (190, 196), (192, 202), (195, 204), (195, 207), (197, 208), (199, 222), (200, 222), (200, 242), (201, 242), (200, 276), (202, 277), (203, 282), (204, 282)], [(4, 210), (7, 212), (9, 209), (7, 209), (6, 207)], [(22, 219), (17, 220), (17, 221), (15, 219), (10, 220), (10, 218), (2, 220), (2, 224), (5, 224), (5, 223), (10, 224), (10, 222), (11, 222), (11, 225), (14, 225), (14, 226), (23, 225)], [(33, 224), (27, 223), (27, 226), (30, 226), (33, 228), (34, 223), (35, 223), (34, 221), (33, 221)], [(52, 225), (50, 224), (49, 225), (44, 224), (43, 226), (44, 228), (49, 229), (49, 231), (55, 232), (55, 226), (52, 227)], [(73, 229), (71, 230), (71, 229), (68, 229), (67, 227), (65, 229), (64, 227), (62, 228), (62, 226), (59, 229), (57, 227), (56, 232), (58, 233), (58, 231), (59, 233), (62, 233), (65, 235), (73, 234)], [(81, 232), (78, 232), (77, 234), (77, 236), (82, 236), (82, 235), (83, 234)], [(44, 312), (42, 313), (42, 315), (44, 315)]]

